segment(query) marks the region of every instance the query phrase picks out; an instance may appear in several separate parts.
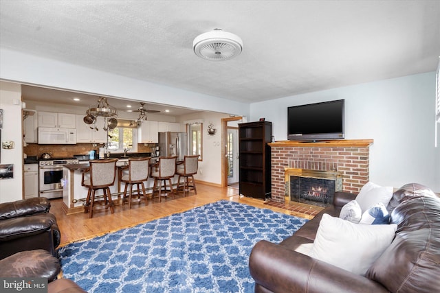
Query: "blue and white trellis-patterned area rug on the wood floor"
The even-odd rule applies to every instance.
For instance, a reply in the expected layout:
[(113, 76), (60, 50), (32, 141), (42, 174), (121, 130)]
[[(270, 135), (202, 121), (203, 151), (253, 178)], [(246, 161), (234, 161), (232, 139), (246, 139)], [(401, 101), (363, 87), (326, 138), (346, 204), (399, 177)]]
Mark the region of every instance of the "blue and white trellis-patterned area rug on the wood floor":
[(281, 242), (306, 219), (221, 200), (58, 250), (63, 276), (87, 292), (254, 292), (261, 239)]

